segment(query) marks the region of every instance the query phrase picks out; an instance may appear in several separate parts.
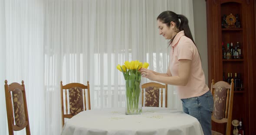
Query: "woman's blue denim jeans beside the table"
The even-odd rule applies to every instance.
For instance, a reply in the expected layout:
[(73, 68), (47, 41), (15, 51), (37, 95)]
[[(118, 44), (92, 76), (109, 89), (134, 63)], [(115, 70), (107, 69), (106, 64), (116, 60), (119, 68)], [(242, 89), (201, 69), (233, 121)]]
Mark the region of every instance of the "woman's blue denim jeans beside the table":
[(181, 99), (184, 113), (198, 119), (203, 134), (211, 135), (211, 114), (213, 112), (213, 95), (210, 90), (202, 96)]

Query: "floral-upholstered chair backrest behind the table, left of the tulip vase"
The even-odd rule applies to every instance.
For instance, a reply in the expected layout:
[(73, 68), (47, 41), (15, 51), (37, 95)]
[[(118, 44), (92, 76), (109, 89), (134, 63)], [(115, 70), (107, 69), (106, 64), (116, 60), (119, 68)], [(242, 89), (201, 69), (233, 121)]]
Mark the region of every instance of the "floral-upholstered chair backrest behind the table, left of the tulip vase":
[[(87, 89), (87, 91), (85, 91)], [(67, 90), (69, 90), (69, 94), (67, 94)], [(65, 91), (65, 107), (66, 112), (64, 114), (64, 95)], [(62, 127), (64, 126), (64, 118), (72, 118), (76, 114), (86, 110), (86, 105), (88, 109), (91, 109), (91, 100), (90, 100), (90, 85), (89, 81), (87, 81), (87, 86), (79, 83), (70, 83), (66, 85), (62, 85), (62, 81), (60, 81), (60, 95), (61, 95), (61, 109), (62, 109)], [(86, 104), (86, 96), (87, 95), (87, 104)], [(69, 96), (69, 98), (68, 98)], [(69, 111), (68, 111), (68, 102), (69, 102)]]

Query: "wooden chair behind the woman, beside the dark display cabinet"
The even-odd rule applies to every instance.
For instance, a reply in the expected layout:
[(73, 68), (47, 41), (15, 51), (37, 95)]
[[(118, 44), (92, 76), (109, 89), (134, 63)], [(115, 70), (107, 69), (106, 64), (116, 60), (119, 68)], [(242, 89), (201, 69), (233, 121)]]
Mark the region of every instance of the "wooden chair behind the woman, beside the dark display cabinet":
[[(212, 113), (212, 121), (217, 123), (226, 123), (226, 135), (231, 133), (234, 80), (231, 84), (219, 81), (214, 84), (212, 80), (211, 93), (213, 94), (214, 107)], [(212, 135), (223, 135), (212, 130)]]

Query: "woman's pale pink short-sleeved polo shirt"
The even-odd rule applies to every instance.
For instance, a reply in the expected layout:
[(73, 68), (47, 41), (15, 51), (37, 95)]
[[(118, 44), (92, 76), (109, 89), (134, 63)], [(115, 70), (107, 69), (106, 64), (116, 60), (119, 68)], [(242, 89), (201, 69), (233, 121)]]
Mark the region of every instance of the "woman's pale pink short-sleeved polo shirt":
[(201, 96), (209, 90), (205, 84), (205, 76), (197, 47), (184, 31), (177, 33), (171, 43), (170, 71), (172, 76), (178, 76), (179, 60), (191, 60), (191, 75), (186, 86), (177, 86), (181, 99)]

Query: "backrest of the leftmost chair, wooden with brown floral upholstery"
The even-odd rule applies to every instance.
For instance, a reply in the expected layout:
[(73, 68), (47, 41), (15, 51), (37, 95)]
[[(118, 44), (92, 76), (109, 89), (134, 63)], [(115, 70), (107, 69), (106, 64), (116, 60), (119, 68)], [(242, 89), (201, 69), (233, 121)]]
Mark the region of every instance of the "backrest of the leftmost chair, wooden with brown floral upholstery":
[(19, 83), (8, 85), (5, 80), (4, 84), (9, 135), (13, 135), (13, 131), (20, 131), (25, 127), (26, 135), (30, 135), (24, 81), (22, 80), (21, 83), (21, 85)]

